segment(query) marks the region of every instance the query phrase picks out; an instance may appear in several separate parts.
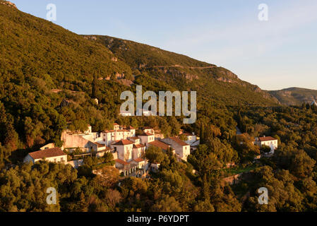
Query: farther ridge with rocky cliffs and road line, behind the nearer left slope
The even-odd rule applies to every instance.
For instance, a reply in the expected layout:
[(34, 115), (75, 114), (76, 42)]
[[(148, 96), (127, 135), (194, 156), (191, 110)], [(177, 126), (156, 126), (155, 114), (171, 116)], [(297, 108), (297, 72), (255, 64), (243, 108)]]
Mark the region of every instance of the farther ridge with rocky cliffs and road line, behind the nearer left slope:
[(133, 74), (148, 74), (179, 90), (197, 90), (198, 97), (223, 105), (272, 106), (275, 97), (245, 81), (237, 75), (214, 64), (198, 61), (181, 54), (168, 52), (147, 44), (115, 37), (85, 35), (104, 44), (116, 56), (131, 66)]

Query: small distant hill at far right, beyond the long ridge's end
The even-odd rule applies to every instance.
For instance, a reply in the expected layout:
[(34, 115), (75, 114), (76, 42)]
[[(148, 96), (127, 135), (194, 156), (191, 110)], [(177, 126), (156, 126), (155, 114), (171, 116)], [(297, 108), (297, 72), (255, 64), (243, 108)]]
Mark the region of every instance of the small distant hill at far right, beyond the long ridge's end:
[(301, 105), (303, 102), (312, 102), (312, 97), (317, 100), (317, 90), (305, 88), (286, 88), (268, 93), (276, 97), (282, 105)]

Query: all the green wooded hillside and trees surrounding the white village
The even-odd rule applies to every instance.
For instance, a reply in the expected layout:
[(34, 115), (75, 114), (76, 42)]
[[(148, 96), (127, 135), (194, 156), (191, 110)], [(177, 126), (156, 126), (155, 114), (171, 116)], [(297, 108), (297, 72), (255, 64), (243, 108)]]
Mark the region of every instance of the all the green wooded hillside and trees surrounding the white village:
[[(283, 107), (227, 69), (114, 37), (76, 35), (2, 4), (0, 30), (0, 211), (317, 210), (316, 107)], [(196, 90), (198, 120), (119, 117), (121, 92), (134, 93), (136, 85)], [(102, 131), (114, 121), (165, 136), (195, 132), (201, 145), (188, 162), (150, 148), (147, 158), (161, 167), (144, 180), (119, 177), (109, 166), (93, 174), (93, 157), (78, 169), (22, 162), (41, 145), (61, 145), (66, 128)], [(263, 135), (277, 138), (279, 148), (254, 161), (263, 150), (251, 141)], [(237, 167), (224, 169), (228, 162)], [(224, 182), (238, 172), (245, 172), (239, 184)], [(57, 205), (47, 205), (47, 187), (58, 191)], [(269, 205), (258, 204), (260, 187), (268, 188)]]

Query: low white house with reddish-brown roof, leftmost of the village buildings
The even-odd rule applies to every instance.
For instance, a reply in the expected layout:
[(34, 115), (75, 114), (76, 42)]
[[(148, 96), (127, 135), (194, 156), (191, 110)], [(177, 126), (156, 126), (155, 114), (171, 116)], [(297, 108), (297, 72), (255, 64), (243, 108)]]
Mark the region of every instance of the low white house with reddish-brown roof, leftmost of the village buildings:
[(23, 162), (38, 162), (45, 160), (47, 162), (67, 163), (67, 155), (61, 148), (50, 148), (45, 150), (39, 150), (34, 153), (29, 153)]

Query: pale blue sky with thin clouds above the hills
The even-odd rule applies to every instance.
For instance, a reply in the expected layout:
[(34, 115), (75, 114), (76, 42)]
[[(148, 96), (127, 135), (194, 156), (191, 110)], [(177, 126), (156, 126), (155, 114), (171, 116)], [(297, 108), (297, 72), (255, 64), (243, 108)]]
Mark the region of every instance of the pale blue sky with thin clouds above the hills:
[[(316, 0), (12, 0), (78, 34), (110, 35), (223, 66), (265, 90), (317, 90)], [(268, 21), (258, 20), (259, 4)]]

